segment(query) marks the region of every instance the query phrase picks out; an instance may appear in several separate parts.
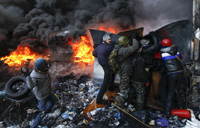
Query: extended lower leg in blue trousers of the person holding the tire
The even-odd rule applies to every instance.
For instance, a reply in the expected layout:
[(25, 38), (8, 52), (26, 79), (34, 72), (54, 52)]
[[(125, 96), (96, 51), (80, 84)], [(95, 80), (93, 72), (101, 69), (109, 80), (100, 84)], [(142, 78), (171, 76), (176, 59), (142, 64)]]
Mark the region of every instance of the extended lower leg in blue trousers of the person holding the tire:
[(46, 109), (46, 103), (47, 103), (47, 101), (45, 99), (38, 100), (40, 113), (36, 116), (31, 128), (36, 128), (38, 126), (38, 124), (40, 123), (40, 121), (42, 120), (41, 116), (42, 116), (42, 112), (45, 111), (45, 109)]

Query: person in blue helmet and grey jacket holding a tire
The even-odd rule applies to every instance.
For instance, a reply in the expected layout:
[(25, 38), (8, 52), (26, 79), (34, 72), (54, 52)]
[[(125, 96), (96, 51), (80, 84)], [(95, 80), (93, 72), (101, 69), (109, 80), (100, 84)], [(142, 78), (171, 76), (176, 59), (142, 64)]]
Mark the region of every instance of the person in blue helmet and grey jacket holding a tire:
[(51, 90), (51, 77), (48, 73), (48, 63), (43, 58), (38, 58), (34, 62), (34, 70), (30, 76), (26, 78), (27, 86), (32, 89), (36, 99), (40, 113), (36, 116), (31, 128), (35, 128), (41, 122), (42, 117), (51, 111), (53, 105), (57, 102), (57, 98)]

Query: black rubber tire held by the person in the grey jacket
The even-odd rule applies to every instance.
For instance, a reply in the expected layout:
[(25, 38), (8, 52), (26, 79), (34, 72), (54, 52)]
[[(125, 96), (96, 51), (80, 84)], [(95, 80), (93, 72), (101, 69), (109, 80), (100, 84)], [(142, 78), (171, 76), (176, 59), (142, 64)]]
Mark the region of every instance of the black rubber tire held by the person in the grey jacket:
[(21, 100), (29, 94), (30, 89), (24, 76), (14, 76), (6, 83), (5, 91), (9, 98)]

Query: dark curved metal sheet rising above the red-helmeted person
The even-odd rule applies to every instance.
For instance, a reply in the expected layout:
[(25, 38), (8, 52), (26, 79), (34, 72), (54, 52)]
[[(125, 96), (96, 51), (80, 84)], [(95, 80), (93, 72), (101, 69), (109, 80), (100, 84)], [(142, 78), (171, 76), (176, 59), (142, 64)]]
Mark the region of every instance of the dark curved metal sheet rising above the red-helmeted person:
[(154, 34), (159, 42), (165, 38), (170, 39), (183, 55), (183, 63), (191, 61), (192, 21), (181, 20), (170, 23), (156, 30)]

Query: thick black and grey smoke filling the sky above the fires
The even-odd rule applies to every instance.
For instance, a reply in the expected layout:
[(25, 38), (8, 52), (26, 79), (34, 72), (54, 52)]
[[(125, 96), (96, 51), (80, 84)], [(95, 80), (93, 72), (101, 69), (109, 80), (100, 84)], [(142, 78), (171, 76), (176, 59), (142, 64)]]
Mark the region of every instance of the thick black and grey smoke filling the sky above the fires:
[(13, 38), (46, 40), (54, 31), (71, 36), (103, 24), (119, 30), (144, 27), (145, 32), (191, 16), (191, 0), (1, 0), (0, 30)]

